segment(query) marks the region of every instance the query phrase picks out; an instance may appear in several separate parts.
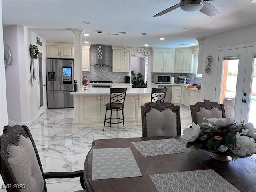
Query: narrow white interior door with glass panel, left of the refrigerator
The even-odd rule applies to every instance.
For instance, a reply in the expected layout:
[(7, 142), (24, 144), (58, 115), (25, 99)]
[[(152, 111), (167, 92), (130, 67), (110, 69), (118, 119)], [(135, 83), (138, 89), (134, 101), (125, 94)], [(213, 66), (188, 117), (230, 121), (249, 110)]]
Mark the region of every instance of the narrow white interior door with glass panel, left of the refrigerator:
[(46, 74), (45, 63), (42, 60), (42, 50), (38, 54), (38, 100), (39, 100), (39, 115), (45, 112), (46, 106)]

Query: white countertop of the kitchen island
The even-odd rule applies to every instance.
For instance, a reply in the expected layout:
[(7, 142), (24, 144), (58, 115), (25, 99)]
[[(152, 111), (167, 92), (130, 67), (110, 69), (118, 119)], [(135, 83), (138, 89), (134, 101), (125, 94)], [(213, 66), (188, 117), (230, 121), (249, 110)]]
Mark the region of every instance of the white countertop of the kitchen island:
[[(87, 90), (78, 90), (77, 92), (70, 92), (70, 95), (108, 95), (110, 88), (90, 87)], [(150, 95), (150, 88), (127, 88), (126, 95)]]

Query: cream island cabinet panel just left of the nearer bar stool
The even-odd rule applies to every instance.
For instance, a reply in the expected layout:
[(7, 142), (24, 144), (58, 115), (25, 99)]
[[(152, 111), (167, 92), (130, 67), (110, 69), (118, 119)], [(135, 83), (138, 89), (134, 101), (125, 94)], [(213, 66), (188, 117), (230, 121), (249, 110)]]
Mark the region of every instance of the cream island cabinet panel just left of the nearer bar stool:
[(81, 122), (100, 122), (100, 111), (102, 105), (102, 97), (100, 95), (83, 95), (80, 96)]

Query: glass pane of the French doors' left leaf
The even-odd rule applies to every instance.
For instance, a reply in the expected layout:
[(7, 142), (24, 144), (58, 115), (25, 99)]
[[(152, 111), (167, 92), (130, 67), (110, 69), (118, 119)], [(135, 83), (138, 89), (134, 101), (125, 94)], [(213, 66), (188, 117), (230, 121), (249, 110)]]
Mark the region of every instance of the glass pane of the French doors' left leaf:
[(239, 58), (237, 56), (226, 57), (223, 60), (220, 103), (224, 104), (226, 117), (232, 119), (234, 119), (238, 64)]

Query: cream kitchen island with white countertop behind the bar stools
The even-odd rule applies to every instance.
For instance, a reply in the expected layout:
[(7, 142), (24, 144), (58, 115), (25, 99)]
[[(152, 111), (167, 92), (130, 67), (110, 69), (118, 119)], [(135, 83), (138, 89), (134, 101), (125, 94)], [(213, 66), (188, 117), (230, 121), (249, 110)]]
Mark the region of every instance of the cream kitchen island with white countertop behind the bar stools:
[[(110, 102), (110, 88), (88, 88), (70, 92), (74, 99), (72, 128), (99, 127), (104, 125), (105, 104)], [(151, 100), (150, 88), (127, 88), (124, 102), (124, 124), (141, 125), (140, 106)], [(112, 112), (115, 117), (116, 113)], [(110, 118), (110, 113), (107, 113)], [(108, 127), (109, 124), (106, 124)]]

